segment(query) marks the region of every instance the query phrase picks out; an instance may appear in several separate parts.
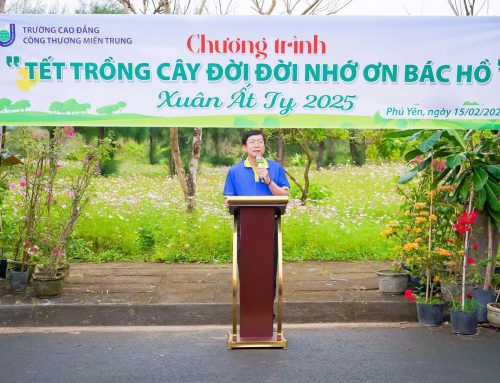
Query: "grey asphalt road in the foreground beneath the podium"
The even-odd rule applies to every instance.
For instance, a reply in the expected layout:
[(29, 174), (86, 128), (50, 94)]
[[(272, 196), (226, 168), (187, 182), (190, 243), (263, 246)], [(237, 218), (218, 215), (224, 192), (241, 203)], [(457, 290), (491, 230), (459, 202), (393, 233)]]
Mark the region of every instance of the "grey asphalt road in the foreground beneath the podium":
[(287, 350), (225, 349), (227, 327), (0, 329), (2, 382), (499, 382), (500, 332), (295, 325)]

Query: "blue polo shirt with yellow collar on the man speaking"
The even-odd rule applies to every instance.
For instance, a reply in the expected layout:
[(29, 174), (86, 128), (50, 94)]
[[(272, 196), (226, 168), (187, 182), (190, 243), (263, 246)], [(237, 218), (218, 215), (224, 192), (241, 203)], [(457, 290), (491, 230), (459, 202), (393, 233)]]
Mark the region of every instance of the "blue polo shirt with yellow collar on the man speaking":
[[(290, 188), (285, 169), (279, 162), (264, 160), (271, 180), (281, 188)], [(222, 192), (225, 196), (266, 196), (273, 195), (265, 183), (259, 182), (259, 177), (248, 160), (241, 161), (229, 168)]]

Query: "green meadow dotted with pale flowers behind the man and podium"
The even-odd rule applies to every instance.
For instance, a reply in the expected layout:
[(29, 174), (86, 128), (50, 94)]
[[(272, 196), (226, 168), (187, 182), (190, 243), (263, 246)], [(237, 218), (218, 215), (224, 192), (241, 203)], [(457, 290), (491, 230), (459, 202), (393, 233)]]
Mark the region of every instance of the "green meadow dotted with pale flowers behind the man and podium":
[[(138, 153), (137, 156), (141, 156)], [(231, 260), (232, 217), (223, 205), (226, 167), (202, 167), (198, 209), (187, 214), (176, 179), (164, 165), (117, 155), (118, 175), (94, 181), (93, 198), (77, 223), (69, 254), (76, 261), (210, 262)], [(74, 171), (63, 163), (60, 185)], [(300, 168), (290, 169), (295, 174)], [(327, 191), (302, 206), (292, 200), (283, 217), (285, 261), (387, 259), (391, 246), (379, 235), (399, 206), (400, 165), (335, 166), (311, 171)], [(15, 183), (16, 181), (12, 181)], [(292, 185), (293, 187), (293, 185)], [(17, 191), (17, 192), (16, 192)], [(6, 199), (7, 222), (16, 222), (19, 188)], [(60, 207), (64, 208), (64, 204)]]

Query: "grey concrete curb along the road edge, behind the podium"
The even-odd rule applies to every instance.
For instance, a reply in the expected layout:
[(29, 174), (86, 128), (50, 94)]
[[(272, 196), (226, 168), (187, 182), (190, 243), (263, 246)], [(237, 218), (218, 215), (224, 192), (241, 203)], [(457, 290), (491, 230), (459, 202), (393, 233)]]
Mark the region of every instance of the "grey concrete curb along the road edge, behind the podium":
[[(285, 323), (416, 322), (413, 302), (286, 302)], [(231, 304), (0, 305), (0, 327), (231, 325)]]

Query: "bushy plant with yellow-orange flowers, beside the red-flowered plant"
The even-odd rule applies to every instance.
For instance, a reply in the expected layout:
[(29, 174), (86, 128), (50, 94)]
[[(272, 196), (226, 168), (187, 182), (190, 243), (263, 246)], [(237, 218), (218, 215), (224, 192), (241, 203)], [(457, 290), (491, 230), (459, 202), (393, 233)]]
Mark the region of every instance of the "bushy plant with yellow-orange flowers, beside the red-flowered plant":
[[(389, 226), (381, 233), (399, 240), (396, 249), (402, 267), (421, 281), (415, 286), (415, 299), (421, 303), (440, 300), (438, 286), (458, 255), (456, 245), (448, 241), (454, 237), (452, 223), (459, 209), (448, 198), (454, 186), (435, 185), (434, 170), (438, 171), (437, 167), (429, 167), (413, 182), (398, 187), (404, 213), (397, 226)], [(388, 231), (391, 228), (393, 231)]]

